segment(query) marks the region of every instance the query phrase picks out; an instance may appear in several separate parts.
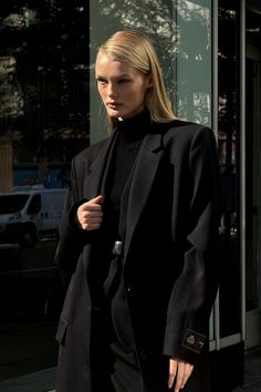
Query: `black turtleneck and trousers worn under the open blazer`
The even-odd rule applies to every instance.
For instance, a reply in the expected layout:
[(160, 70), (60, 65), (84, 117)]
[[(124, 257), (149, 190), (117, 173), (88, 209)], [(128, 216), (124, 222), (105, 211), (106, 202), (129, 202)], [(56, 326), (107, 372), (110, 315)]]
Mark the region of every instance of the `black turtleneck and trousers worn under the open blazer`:
[[(122, 202), (127, 198), (128, 183), (132, 179), (132, 172), (134, 168), (135, 159), (142, 144), (142, 141), (149, 130), (150, 120), (148, 112), (145, 111), (134, 118), (118, 121), (118, 126), (115, 135), (115, 146), (112, 151), (112, 159), (108, 167), (105, 167), (107, 176), (105, 176), (105, 203), (104, 203), (104, 219), (106, 239), (109, 243), (107, 248), (107, 255), (103, 256), (103, 260), (109, 260), (109, 265), (103, 264), (100, 266), (104, 268), (106, 279), (101, 286), (103, 287), (104, 300), (100, 303), (100, 319), (101, 324), (105, 326), (105, 330), (101, 333), (101, 329), (97, 329), (96, 336), (96, 350), (94, 353), (93, 373), (97, 371), (97, 374), (93, 378), (93, 391), (117, 391), (117, 392), (143, 392), (143, 379), (138, 365), (136, 355), (134, 354), (129, 345), (126, 347), (117, 336), (115, 331), (115, 324), (113, 314), (117, 312), (117, 308), (122, 309), (126, 307), (126, 300), (124, 295), (123, 285), (123, 268), (122, 268), (122, 255), (115, 255), (112, 258), (113, 244), (117, 240), (124, 241), (125, 231), (125, 217), (124, 206), (122, 208)], [(122, 196), (125, 197), (122, 197)], [(121, 221), (121, 225), (119, 225)], [(101, 269), (97, 271), (95, 282), (101, 279)], [(115, 309), (116, 308), (116, 309)], [(126, 311), (125, 311), (126, 313)], [(121, 318), (123, 311), (119, 312)], [(126, 330), (132, 336), (129, 318), (126, 314), (125, 318)], [(104, 342), (101, 344), (101, 336), (104, 337)], [(134, 344), (133, 337), (132, 344)], [(101, 351), (97, 350), (101, 348)], [(134, 349), (134, 348), (133, 348)], [(105, 354), (106, 350), (106, 354)], [(105, 360), (106, 358), (106, 360)], [(101, 378), (101, 369), (103, 369), (103, 378)], [(165, 380), (166, 381), (166, 380)]]

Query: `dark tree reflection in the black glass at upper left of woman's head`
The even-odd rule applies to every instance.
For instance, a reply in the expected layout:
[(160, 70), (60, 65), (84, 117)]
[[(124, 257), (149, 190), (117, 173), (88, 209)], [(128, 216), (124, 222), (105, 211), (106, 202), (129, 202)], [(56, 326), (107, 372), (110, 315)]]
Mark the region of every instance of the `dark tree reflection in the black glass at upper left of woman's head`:
[(1, 134), (19, 133), (36, 159), (51, 141), (87, 138), (87, 7), (20, 0), (0, 16)]

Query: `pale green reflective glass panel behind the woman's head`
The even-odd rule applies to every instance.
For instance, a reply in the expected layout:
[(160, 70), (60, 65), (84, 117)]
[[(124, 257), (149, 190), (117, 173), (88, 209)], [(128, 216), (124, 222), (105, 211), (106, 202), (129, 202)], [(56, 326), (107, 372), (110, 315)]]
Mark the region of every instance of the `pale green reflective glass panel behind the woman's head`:
[[(137, 29), (154, 42), (177, 116), (211, 123), (211, 1), (92, 1), (90, 8), (91, 143), (106, 135), (94, 62), (98, 45), (117, 30)], [(143, 16), (143, 18), (140, 18)], [(109, 21), (109, 22), (108, 22)]]

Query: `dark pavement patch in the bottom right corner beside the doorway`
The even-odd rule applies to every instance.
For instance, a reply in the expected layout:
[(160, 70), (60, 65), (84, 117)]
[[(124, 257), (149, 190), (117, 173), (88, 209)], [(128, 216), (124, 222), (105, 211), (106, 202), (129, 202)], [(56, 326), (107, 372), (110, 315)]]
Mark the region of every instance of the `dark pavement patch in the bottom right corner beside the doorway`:
[(244, 384), (232, 392), (261, 392), (261, 348), (244, 357)]

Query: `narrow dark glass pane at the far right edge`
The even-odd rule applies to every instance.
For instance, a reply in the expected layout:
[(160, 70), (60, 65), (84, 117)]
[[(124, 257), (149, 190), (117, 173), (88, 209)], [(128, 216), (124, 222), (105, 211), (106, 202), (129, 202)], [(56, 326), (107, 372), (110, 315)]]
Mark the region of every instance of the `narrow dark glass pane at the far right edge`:
[(247, 311), (261, 309), (261, 6), (246, 13)]

